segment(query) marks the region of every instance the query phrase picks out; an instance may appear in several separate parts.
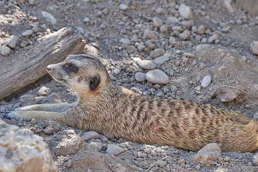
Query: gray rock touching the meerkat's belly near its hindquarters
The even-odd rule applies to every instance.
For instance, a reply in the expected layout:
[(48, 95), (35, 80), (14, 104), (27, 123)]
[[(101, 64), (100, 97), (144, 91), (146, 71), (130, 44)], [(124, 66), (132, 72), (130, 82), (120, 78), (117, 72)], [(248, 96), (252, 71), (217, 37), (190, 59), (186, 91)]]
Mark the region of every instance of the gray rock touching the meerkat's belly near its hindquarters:
[(199, 150), (193, 160), (204, 165), (212, 165), (219, 157), (222, 157), (220, 146), (217, 143), (210, 143)]

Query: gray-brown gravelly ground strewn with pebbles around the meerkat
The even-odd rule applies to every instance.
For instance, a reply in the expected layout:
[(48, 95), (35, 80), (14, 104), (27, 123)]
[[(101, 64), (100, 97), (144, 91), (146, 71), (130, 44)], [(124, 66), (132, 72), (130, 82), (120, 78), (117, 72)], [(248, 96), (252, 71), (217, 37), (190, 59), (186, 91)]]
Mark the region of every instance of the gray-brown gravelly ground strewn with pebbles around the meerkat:
[[(0, 58), (14, 58), (43, 35), (75, 26), (88, 42), (84, 51), (99, 54), (118, 84), (258, 118), (258, 16), (234, 4), (10, 0), (0, 6)], [(0, 101), (0, 117), (20, 106), (75, 100), (72, 90), (46, 76)], [(211, 144), (196, 153), (107, 138), (53, 121), (3, 120), (43, 137), (59, 171), (258, 170), (255, 152), (221, 154)]]

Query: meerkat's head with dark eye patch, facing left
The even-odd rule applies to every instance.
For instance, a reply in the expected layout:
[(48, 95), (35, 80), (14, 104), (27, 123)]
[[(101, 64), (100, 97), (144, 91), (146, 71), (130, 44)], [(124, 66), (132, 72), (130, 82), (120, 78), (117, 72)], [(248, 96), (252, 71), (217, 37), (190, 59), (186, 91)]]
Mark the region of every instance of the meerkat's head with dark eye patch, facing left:
[(55, 80), (80, 94), (101, 91), (110, 79), (96, 57), (83, 54), (69, 55), (63, 62), (49, 65), (47, 71)]

